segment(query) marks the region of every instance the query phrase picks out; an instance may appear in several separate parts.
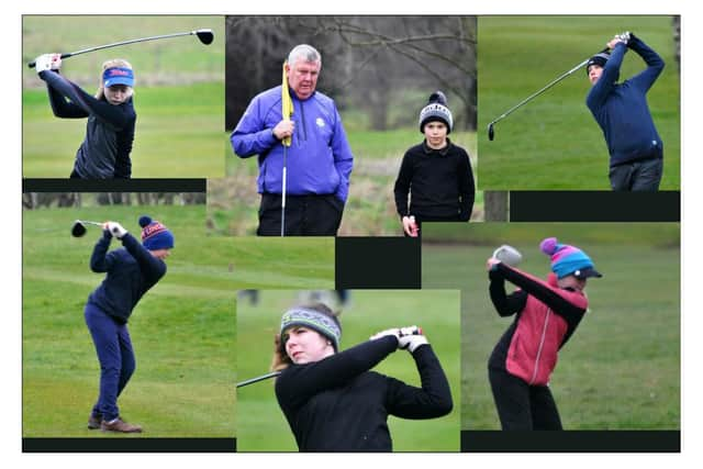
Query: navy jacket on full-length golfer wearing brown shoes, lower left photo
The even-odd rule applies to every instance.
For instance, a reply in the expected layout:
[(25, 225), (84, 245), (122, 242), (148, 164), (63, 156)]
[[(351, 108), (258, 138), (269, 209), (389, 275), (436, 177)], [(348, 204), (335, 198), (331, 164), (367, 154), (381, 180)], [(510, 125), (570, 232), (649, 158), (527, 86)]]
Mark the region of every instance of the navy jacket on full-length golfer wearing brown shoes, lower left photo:
[(130, 233), (122, 236), (124, 247), (108, 253), (112, 235), (102, 232), (90, 257), (93, 272), (108, 272), (88, 302), (126, 323), (140, 299), (166, 275), (166, 263), (152, 256)]

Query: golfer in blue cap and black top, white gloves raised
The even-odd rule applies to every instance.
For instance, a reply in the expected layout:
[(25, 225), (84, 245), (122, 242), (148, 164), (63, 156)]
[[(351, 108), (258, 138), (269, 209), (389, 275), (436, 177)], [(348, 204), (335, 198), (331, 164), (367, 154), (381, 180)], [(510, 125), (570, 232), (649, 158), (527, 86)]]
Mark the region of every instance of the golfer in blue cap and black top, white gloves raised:
[(60, 54), (36, 58), (36, 72), (46, 81), (54, 115), (88, 118), (86, 138), (76, 153), (71, 178), (113, 179), (132, 176), (132, 144), (136, 113), (132, 103), (134, 71), (129, 62), (108, 60), (102, 65), (100, 87), (94, 97), (59, 74)]

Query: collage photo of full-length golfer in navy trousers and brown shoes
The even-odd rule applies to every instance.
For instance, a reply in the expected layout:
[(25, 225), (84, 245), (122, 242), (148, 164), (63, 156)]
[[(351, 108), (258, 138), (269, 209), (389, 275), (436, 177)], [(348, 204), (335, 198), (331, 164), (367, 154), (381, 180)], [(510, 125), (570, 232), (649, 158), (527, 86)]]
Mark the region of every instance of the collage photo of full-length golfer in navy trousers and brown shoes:
[(25, 440), (235, 449), (235, 249), (204, 216), (202, 192), (23, 194)]

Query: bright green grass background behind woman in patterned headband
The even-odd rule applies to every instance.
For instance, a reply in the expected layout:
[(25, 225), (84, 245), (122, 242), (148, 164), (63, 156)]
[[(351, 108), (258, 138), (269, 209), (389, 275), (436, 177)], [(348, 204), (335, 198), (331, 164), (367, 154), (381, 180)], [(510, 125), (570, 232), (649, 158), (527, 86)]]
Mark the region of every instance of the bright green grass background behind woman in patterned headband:
[[(367, 340), (372, 334), (404, 325), (423, 327), (447, 373), (454, 410), (442, 418), (389, 418), (395, 451), (457, 451), (459, 449), (459, 292), (352, 291), (341, 316), (341, 348)], [(237, 381), (268, 372), (274, 335), (283, 311), (297, 303), (298, 291), (261, 291), (258, 305), (237, 304)], [(378, 372), (420, 386), (414, 361), (398, 350), (375, 368)], [(274, 381), (237, 391), (237, 450), (294, 451), (298, 447), (274, 392)]]

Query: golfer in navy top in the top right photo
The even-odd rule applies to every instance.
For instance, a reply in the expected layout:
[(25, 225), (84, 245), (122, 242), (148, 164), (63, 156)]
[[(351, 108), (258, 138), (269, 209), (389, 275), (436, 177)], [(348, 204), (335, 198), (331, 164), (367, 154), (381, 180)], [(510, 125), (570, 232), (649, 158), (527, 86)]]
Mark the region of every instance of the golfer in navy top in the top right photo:
[[(585, 66), (592, 85), (585, 103), (607, 144), (611, 187), (616, 191), (656, 191), (661, 181), (663, 144), (649, 113), (647, 91), (661, 74), (663, 60), (632, 33), (615, 36), (607, 47), (610, 54), (596, 54)], [(628, 48), (647, 68), (617, 83)]]

